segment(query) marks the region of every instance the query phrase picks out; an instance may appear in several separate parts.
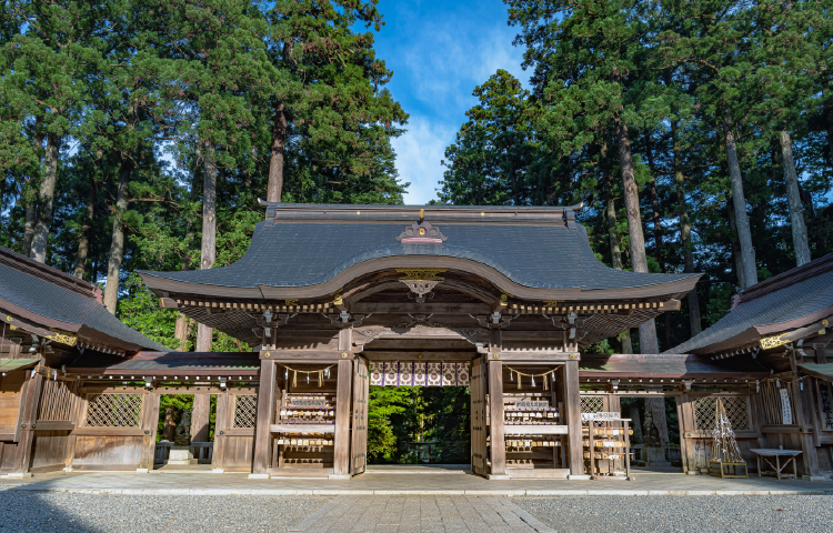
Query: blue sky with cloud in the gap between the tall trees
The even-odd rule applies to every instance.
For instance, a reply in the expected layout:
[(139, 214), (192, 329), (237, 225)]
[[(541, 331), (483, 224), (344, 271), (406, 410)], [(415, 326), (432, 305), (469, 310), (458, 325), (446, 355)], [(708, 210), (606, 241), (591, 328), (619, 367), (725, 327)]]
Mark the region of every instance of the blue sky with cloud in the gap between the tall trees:
[(522, 50), (512, 46), (500, 0), (380, 0), (385, 26), (375, 36), (377, 57), (393, 71), (388, 88), (411, 118), (393, 140), (400, 179), (411, 182), (405, 203), (436, 198), (445, 147), (454, 142), (474, 88), (498, 69), (524, 84)]

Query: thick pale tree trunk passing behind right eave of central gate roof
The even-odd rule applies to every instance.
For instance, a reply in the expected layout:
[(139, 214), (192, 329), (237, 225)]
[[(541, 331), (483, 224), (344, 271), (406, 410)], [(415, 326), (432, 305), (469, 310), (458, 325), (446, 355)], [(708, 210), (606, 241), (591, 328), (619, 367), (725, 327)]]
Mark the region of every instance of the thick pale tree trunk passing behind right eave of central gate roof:
[[(640, 217), (640, 197), (636, 190), (636, 179), (633, 174), (633, 157), (631, 154), (631, 141), (628, 138), (628, 125), (620, 121), (616, 123), (616, 141), (619, 144), (619, 165), (622, 169), (622, 181), (624, 183), (624, 203), (628, 213), (628, 234), (631, 239), (631, 263), (634, 272), (648, 272), (648, 258), (645, 257), (645, 235), (642, 232), (642, 218)], [(656, 341), (656, 325), (654, 319), (640, 325), (640, 352), (660, 353)]]

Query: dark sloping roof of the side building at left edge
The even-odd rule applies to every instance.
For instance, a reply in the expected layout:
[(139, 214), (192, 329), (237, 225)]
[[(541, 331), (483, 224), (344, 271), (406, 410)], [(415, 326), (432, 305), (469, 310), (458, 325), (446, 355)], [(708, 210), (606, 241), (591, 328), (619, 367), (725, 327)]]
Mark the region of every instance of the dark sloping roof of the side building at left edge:
[[(31, 313), (28, 320), (32, 322), (43, 318), (61, 322), (72, 332), (94, 330), (123, 350), (168, 351), (110, 314), (96, 299), (90, 283), (0, 247), (0, 308), (3, 302)], [(6, 311), (14, 313), (11, 309)]]

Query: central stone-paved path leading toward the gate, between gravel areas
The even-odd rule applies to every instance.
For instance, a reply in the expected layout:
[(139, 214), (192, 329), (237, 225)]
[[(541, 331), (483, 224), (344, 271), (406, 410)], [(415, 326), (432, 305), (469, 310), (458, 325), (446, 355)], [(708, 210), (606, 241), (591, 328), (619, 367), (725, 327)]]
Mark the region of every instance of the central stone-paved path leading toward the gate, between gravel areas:
[(309, 533), (553, 532), (506, 497), (338, 496), (290, 531)]

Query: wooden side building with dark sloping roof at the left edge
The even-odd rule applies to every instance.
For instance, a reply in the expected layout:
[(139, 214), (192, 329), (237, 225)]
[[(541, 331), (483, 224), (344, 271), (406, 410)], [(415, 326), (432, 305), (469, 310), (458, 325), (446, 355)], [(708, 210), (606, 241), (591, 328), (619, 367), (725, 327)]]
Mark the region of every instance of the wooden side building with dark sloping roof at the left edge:
[(0, 328), (1, 474), (123, 462), (129, 455), (113, 445), (141, 447), (138, 426), (122, 441), (108, 439), (108, 428), (131, 425), (144, 398), (121, 420), (99, 420), (97, 409), (110, 409), (111, 399), (86, 395), (80, 376), (67, 372), (82, 356), (168, 351), (109, 313), (100, 289), (0, 247)]

